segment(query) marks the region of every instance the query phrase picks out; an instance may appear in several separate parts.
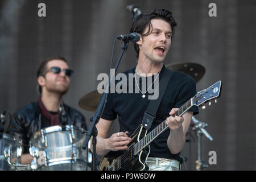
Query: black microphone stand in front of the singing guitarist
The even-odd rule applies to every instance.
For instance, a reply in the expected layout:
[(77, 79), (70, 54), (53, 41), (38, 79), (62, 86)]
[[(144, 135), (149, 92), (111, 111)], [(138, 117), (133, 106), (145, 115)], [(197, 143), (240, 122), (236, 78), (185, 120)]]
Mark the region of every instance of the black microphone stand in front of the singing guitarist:
[[(122, 59), (122, 56), (123, 56), (123, 53), (125, 51), (127, 51), (127, 47), (128, 47), (128, 42), (129, 41), (125, 41), (123, 43), (123, 46), (122, 46), (122, 52), (121, 52), (121, 55), (119, 56), (119, 59), (117, 61), (117, 64), (115, 65), (115, 71), (117, 70), (118, 68), (118, 65)], [(111, 76), (111, 75), (110, 75)], [(110, 83), (112, 82), (113, 78), (115, 77), (115, 74), (114, 76), (111, 76), (110, 77), (110, 81), (109, 81), (109, 85), (108, 85), (108, 88), (106, 89), (109, 89), (110, 88)], [(100, 99), (100, 102), (98, 104), (98, 107), (97, 107), (97, 110), (96, 110), (96, 113), (94, 115), (94, 117), (90, 118), (90, 121), (92, 122), (92, 125), (90, 125), (90, 129), (89, 131), (87, 132), (86, 134), (86, 138), (85, 138), (85, 141), (84, 141), (84, 144), (82, 145), (82, 149), (86, 149), (88, 147), (88, 142), (90, 140), (90, 138), (92, 137), (92, 144), (93, 144), (93, 151), (92, 151), (92, 171), (95, 171), (96, 170), (96, 144), (97, 144), (97, 135), (98, 135), (98, 131), (96, 129), (96, 124), (98, 123), (98, 121), (100, 120), (100, 117), (101, 117), (101, 114), (102, 114), (102, 111), (104, 110), (104, 107), (105, 107), (105, 104), (106, 104), (106, 98), (107, 98), (108, 94), (106, 94), (105, 92), (102, 93), (101, 95), (101, 99)]]

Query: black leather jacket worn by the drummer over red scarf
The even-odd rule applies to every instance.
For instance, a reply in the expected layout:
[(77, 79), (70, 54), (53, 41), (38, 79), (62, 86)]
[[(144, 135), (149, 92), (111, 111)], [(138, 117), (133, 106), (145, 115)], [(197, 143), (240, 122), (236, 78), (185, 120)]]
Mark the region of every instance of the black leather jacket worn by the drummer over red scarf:
[[(67, 113), (67, 125), (74, 125), (86, 130), (85, 117), (76, 109), (64, 105)], [(23, 154), (28, 153), (30, 138), (42, 129), (42, 114), (38, 102), (31, 102), (15, 114), (10, 134), (22, 139)]]

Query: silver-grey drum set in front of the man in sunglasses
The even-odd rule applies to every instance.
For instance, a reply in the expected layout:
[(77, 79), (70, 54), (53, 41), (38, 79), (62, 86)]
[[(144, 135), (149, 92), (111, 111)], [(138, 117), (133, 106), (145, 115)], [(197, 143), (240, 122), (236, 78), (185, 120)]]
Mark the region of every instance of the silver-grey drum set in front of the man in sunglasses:
[(85, 137), (86, 131), (73, 125), (57, 125), (39, 130), (29, 142), (32, 162), (24, 165), (21, 163), (22, 139), (0, 133), (0, 170), (88, 171), (92, 156), (88, 148), (82, 150)]

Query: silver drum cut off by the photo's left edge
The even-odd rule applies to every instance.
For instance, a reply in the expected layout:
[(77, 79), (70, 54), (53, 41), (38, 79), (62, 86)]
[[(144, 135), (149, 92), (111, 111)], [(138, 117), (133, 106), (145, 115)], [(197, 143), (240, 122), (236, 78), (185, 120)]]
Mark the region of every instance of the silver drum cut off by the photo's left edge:
[(0, 138), (0, 170), (16, 170), (21, 155), (22, 140), (3, 134)]

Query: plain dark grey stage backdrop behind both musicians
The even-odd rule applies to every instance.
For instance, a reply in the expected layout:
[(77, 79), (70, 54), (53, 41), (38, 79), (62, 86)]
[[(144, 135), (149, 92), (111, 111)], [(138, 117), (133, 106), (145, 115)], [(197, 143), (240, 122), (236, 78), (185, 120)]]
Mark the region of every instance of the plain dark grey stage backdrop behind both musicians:
[[(46, 17), (38, 16), (38, 4), (46, 4)], [(216, 3), (217, 17), (210, 17), (209, 3)], [(164, 61), (198, 63), (204, 77), (197, 90), (221, 80), (222, 96), (196, 118), (209, 126), (213, 137), (203, 136), (203, 159), (217, 152), (217, 164), (205, 170), (256, 169), (256, 2), (254, 0), (168, 0), (168, 1), (0, 1), (0, 111), (14, 113), (38, 99), (36, 71), (47, 57), (66, 57), (75, 71), (71, 89), (64, 101), (89, 118), (94, 112), (78, 106), (86, 93), (97, 89), (99, 73), (108, 73), (115, 36), (128, 34), (132, 23), (127, 5), (144, 12), (164, 8), (172, 11), (177, 28), (171, 49)], [(122, 42), (115, 47), (118, 59)], [(123, 56), (118, 72), (136, 65), (133, 46)], [(8, 123), (7, 123), (8, 124)], [(7, 127), (7, 124), (5, 127)], [(113, 125), (117, 132), (118, 124)], [(185, 144), (187, 168), (195, 170), (197, 139)], [(185, 165), (183, 165), (183, 169)]]

